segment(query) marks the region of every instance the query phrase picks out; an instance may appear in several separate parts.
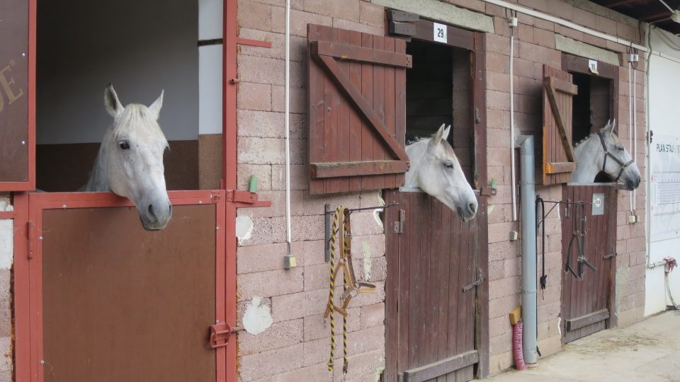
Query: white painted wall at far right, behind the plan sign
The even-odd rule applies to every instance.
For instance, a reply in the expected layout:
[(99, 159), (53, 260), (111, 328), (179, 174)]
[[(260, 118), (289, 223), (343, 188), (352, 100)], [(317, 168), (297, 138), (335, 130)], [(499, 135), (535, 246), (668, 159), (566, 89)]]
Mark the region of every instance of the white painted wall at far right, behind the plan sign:
[[(680, 260), (680, 203), (659, 204), (662, 199), (660, 190), (659, 174), (666, 174), (669, 180), (677, 178), (680, 182), (680, 153), (657, 151), (656, 144), (667, 141), (669, 144), (680, 139), (680, 120), (678, 119), (677, 92), (680, 89), (680, 38), (665, 33), (666, 38), (660, 35), (661, 30), (652, 30), (652, 50), (662, 52), (674, 59), (659, 57), (652, 54), (650, 57), (648, 83), (649, 128), (654, 133), (650, 147), (650, 176), (647, 195), (650, 203), (650, 225), (647, 237), (650, 240), (648, 255), (650, 263), (662, 260), (666, 256)], [(680, 141), (679, 141), (680, 142)], [(672, 189), (680, 187), (680, 183), (668, 183)], [(667, 195), (666, 195), (667, 196)], [(659, 212), (666, 212), (659, 214)], [(677, 212), (676, 212), (677, 211)], [(680, 303), (680, 270), (676, 269), (669, 274), (671, 293), (676, 303)], [(645, 316), (664, 311), (670, 301), (667, 298), (664, 284), (664, 267), (648, 269), (645, 277)]]

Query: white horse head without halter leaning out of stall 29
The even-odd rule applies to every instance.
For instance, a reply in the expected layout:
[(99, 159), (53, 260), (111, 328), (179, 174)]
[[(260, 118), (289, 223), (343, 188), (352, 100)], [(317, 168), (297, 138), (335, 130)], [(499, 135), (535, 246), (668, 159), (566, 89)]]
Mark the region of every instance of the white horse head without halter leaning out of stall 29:
[(463, 168), (446, 138), (451, 127), (439, 127), (432, 137), (406, 147), (411, 168), (406, 173), (406, 187), (418, 187), (458, 213), (467, 221), (477, 214), (477, 197), (467, 183)]

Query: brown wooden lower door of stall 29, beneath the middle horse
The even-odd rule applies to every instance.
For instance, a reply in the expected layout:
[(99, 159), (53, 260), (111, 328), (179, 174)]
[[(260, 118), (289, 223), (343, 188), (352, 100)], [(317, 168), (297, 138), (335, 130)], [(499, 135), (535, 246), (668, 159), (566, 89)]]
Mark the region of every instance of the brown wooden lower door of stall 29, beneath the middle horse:
[[(385, 192), (387, 253), (386, 381), (469, 381), (479, 361), (475, 339), (485, 276), (486, 204), (463, 223), (422, 192)], [(482, 286), (485, 287), (485, 286)], [(477, 334), (478, 336), (479, 334)], [(478, 340), (478, 338), (477, 338)]]

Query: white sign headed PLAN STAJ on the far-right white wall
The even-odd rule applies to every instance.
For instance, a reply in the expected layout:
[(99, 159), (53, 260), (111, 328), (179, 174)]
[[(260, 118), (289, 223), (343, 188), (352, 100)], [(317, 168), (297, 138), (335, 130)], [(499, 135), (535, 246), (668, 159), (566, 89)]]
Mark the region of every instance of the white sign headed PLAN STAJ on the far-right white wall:
[(680, 237), (680, 138), (654, 134), (650, 159), (650, 238)]

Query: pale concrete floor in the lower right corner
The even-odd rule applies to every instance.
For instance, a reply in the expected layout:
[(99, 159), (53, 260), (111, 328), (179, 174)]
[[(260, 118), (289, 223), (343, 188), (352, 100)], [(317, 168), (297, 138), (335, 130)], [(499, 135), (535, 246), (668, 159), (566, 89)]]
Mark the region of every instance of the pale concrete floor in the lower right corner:
[(680, 381), (680, 311), (598, 332), (539, 359), (535, 369), (488, 381)]

